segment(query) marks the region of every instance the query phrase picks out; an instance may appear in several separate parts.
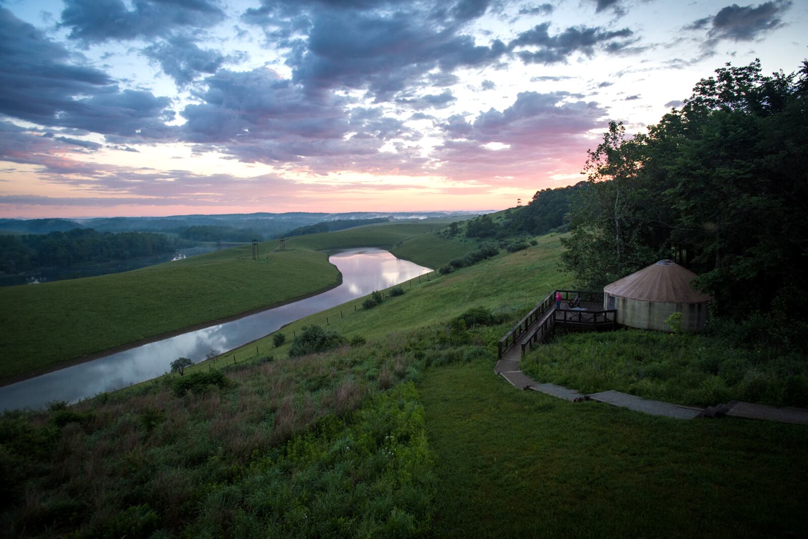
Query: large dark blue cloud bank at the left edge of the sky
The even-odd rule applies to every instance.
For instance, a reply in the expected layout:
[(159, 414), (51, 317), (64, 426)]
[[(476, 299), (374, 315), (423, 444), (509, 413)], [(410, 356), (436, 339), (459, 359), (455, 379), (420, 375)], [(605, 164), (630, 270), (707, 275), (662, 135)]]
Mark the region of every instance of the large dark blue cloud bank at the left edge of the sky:
[[(46, 126), (163, 139), (172, 131), (169, 98), (123, 90), (106, 73), (74, 65), (74, 55), (0, 9), (0, 113)], [(80, 96), (80, 97), (74, 97)]]

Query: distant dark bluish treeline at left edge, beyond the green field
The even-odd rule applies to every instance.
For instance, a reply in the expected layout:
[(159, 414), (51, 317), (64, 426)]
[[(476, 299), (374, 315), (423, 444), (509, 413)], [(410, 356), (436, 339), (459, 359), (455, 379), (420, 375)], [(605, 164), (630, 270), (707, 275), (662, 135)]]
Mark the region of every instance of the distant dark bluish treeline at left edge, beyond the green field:
[(74, 228), (67, 232), (0, 236), (0, 271), (107, 262), (170, 253), (179, 245), (155, 232), (96, 232)]

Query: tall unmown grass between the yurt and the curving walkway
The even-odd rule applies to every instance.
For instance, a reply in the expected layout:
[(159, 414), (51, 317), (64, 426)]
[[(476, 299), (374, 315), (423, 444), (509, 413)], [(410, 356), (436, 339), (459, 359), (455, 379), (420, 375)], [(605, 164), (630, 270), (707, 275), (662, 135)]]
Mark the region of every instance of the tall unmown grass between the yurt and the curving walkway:
[(697, 406), (745, 400), (808, 407), (803, 354), (739, 346), (720, 334), (567, 333), (533, 349), (523, 370), (584, 393), (613, 389)]

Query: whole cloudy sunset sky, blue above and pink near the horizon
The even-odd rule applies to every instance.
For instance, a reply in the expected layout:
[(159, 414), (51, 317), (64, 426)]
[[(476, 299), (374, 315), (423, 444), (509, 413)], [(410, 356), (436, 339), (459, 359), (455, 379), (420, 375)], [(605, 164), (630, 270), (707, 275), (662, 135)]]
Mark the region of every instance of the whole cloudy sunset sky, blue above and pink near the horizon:
[(808, 2), (0, 0), (0, 217), (497, 210)]

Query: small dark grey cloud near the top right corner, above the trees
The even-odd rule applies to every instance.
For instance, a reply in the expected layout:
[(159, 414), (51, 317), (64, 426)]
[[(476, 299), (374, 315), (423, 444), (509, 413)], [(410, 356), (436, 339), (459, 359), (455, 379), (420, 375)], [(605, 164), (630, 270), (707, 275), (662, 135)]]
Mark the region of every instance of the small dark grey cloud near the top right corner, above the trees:
[(790, 0), (765, 2), (759, 6), (726, 6), (713, 17), (697, 19), (685, 27), (686, 30), (708, 29), (710, 41), (734, 40), (752, 41), (764, 33), (784, 25), (781, 16), (789, 10)]

